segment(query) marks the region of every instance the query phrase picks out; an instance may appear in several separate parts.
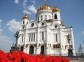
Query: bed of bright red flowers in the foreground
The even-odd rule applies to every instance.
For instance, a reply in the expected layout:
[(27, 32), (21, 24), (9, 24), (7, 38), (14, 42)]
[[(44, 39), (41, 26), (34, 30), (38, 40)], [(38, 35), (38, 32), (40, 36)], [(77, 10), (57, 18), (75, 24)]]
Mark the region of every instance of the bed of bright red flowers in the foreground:
[(69, 62), (69, 58), (61, 56), (28, 55), (21, 51), (4, 53), (0, 50), (0, 62)]

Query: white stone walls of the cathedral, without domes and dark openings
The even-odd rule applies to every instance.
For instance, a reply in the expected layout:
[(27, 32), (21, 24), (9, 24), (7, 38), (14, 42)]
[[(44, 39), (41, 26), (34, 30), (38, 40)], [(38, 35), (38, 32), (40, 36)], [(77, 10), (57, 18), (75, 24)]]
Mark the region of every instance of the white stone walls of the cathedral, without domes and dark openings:
[[(57, 14), (57, 20), (54, 20), (53, 18), (54, 14)], [(46, 22), (45, 15), (47, 15), (47, 20), (53, 19), (53, 21)], [(49, 15), (51, 16), (51, 18)], [(43, 20), (41, 20), (41, 16), (43, 16)], [(73, 30), (72, 28), (68, 28), (66, 26), (61, 25), (60, 12), (52, 13), (51, 11), (50, 12), (42, 11), (37, 13), (36, 17), (37, 18), (39, 17), (40, 21), (39, 23), (37, 19), (36, 19), (37, 21), (34, 22), (26, 20), (25, 21), (26, 29), (24, 28), (19, 31), (20, 37), (18, 38), (17, 44), (20, 46), (24, 45), (24, 52), (29, 54), (30, 46), (32, 45), (34, 47), (34, 54), (40, 54), (41, 46), (46, 45), (44, 46), (45, 49), (44, 52), (47, 55), (68, 55), (69, 43), (67, 41), (67, 35), (70, 34), (71, 35), (70, 43), (73, 46), (74, 49), (73, 51), (75, 53)], [(34, 24), (33, 26), (32, 23)], [(44, 25), (42, 25), (42, 23), (44, 23)], [(42, 32), (44, 32), (44, 40), (42, 40)], [(29, 36), (31, 33), (35, 33), (34, 41), (29, 41)], [(23, 34), (23, 41), (22, 41), (22, 34)], [(57, 41), (56, 41), (56, 34), (57, 34)], [(53, 48), (54, 44), (55, 45), (60, 44), (61, 48)], [(67, 45), (66, 48), (65, 45)]]

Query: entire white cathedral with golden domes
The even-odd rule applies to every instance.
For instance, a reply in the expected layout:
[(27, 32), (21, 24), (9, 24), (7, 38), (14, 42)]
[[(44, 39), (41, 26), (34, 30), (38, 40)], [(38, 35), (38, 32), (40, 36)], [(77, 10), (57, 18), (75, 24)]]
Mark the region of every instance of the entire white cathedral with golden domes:
[(61, 20), (59, 8), (44, 4), (37, 10), (35, 21), (30, 21), (28, 14), (22, 17), (15, 46), (31, 55), (74, 55), (73, 28)]

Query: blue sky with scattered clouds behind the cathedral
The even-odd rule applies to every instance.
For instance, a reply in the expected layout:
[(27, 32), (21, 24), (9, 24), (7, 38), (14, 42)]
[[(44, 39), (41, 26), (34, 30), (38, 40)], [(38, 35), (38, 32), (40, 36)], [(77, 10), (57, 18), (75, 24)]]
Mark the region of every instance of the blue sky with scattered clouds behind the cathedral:
[[(35, 20), (37, 9), (45, 0), (0, 0), (0, 49), (9, 52), (15, 43), (14, 34), (28, 13)], [(58, 7), (66, 26), (73, 26), (76, 52), (81, 44), (84, 52), (84, 0), (47, 0), (51, 7)]]

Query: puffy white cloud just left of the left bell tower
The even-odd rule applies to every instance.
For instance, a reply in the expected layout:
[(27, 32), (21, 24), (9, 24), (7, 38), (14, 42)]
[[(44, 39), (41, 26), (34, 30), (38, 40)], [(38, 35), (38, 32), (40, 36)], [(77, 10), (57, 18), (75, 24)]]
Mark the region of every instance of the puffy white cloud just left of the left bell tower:
[(11, 32), (15, 33), (17, 30), (20, 29), (21, 23), (16, 21), (15, 19), (12, 19), (6, 25)]

